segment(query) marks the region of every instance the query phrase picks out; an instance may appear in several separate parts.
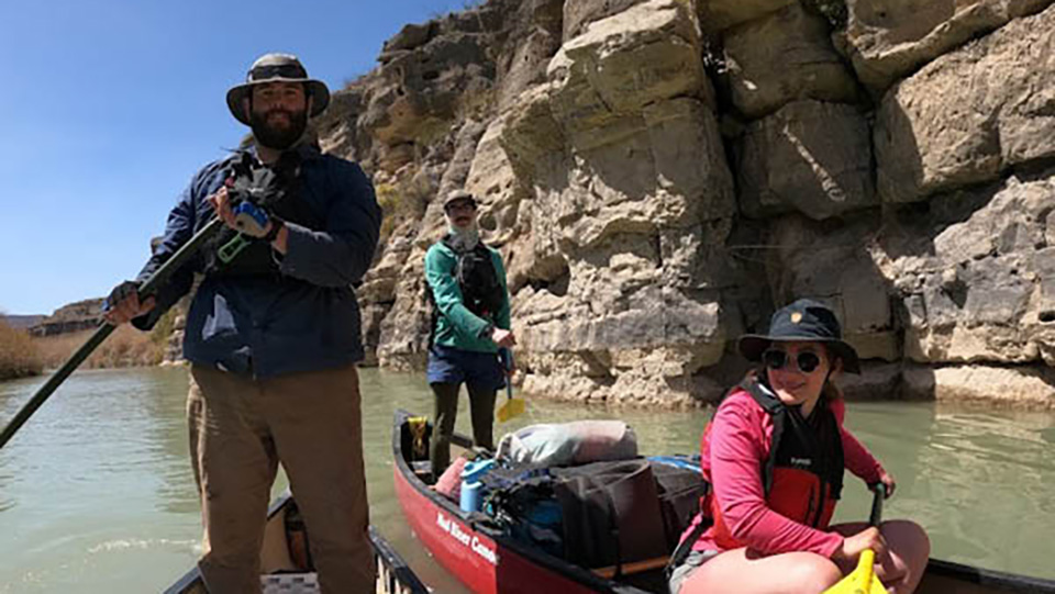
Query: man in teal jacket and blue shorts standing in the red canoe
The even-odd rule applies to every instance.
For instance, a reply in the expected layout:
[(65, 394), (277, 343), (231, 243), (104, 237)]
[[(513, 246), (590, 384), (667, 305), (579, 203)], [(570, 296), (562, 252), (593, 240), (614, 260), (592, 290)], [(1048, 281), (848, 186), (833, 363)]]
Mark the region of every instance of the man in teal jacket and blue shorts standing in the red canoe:
[(476, 199), (454, 191), (443, 201), (448, 233), (425, 254), (433, 301), (429, 385), (436, 397), (430, 459), (438, 477), (451, 463), (451, 435), (462, 384), (469, 393), (473, 441), (495, 448), (495, 396), (507, 371), (497, 354), (517, 344), (510, 329), (502, 256), (480, 240)]

